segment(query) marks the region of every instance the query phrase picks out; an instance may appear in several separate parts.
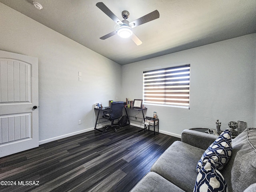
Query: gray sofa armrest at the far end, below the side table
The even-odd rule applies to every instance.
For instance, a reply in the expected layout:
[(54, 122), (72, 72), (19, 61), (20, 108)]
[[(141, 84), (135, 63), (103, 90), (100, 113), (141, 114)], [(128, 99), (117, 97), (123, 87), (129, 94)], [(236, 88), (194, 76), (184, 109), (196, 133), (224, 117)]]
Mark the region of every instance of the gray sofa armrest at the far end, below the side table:
[(181, 141), (200, 149), (206, 150), (218, 136), (195, 130), (185, 129), (181, 134)]

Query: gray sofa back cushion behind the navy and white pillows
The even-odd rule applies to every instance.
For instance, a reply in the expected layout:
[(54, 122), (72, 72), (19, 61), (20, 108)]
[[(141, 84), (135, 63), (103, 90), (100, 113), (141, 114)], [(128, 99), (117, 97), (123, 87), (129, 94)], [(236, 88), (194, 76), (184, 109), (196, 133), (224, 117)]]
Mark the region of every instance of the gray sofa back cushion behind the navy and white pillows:
[(256, 128), (246, 128), (232, 140), (232, 156), (220, 172), (229, 192), (241, 192), (256, 183)]

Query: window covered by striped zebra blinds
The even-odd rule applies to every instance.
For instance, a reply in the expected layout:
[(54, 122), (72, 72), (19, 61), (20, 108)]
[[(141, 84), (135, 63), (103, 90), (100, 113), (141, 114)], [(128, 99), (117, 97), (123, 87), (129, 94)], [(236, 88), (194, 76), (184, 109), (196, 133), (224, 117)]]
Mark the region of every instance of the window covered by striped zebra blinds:
[(190, 64), (143, 72), (144, 104), (189, 108)]

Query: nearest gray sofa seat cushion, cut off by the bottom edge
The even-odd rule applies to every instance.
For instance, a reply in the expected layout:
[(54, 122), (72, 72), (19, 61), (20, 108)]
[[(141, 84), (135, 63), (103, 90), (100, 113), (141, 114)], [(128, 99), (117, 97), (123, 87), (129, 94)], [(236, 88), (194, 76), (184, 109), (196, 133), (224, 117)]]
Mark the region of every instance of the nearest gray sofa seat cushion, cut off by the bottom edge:
[(130, 192), (184, 192), (162, 176), (149, 172)]

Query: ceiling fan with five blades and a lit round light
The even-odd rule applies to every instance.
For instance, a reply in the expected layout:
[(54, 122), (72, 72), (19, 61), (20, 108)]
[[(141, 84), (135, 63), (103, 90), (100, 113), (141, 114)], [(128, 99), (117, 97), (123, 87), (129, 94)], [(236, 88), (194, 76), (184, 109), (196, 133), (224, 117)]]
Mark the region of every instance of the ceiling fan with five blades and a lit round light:
[(142, 16), (141, 18), (138, 18), (132, 22), (129, 22), (126, 19), (128, 19), (128, 17), (130, 16), (130, 13), (124, 10), (122, 11), (122, 17), (124, 18), (124, 20), (121, 21), (112, 11), (110, 11), (110, 9), (104, 3), (98, 2), (96, 6), (100, 8), (100, 10), (102, 10), (114, 22), (116, 22), (116, 24), (119, 25), (117, 30), (100, 37), (100, 39), (102, 40), (109, 38), (115, 34), (118, 34), (118, 36), (122, 38), (130, 37), (134, 41), (134, 43), (136, 43), (136, 45), (140, 45), (142, 44), (142, 41), (132, 32), (132, 28), (159, 18), (159, 12), (158, 10), (155, 10), (149, 14)]

